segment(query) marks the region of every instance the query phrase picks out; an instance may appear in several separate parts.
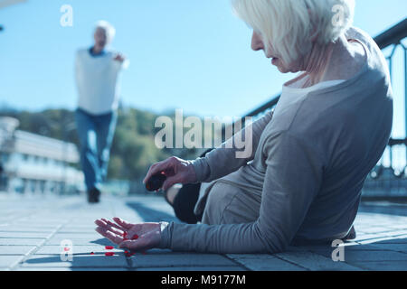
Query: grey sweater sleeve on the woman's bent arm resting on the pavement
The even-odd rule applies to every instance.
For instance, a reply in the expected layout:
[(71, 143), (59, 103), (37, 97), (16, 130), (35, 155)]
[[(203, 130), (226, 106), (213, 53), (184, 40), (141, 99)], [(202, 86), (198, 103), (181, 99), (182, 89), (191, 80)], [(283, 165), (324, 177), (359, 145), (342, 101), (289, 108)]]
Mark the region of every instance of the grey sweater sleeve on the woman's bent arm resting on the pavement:
[(286, 132), (263, 147), (267, 171), (260, 217), (245, 224), (167, 223), (159, 247), (206, 253), (276, 253), (295, 237), (322, 180), (320, 157)]

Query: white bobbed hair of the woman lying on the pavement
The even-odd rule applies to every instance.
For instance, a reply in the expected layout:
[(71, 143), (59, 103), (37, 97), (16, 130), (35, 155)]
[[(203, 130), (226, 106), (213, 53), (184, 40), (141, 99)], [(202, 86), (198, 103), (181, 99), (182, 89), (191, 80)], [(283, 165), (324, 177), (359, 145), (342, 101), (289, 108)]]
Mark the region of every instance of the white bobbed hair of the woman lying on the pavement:
[(232, 0), (232, 5), (286, 63), (310, 51), (313, 35), (320, 44), (336, 42), (355, 14), (355, 0)]

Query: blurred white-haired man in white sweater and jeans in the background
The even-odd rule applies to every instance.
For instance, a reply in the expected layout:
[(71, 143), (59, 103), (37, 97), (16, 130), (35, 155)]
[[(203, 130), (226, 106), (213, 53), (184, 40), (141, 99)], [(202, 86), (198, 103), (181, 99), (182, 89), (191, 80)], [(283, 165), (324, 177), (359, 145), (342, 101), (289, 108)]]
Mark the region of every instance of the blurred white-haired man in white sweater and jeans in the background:
[(90, 203), (99, 202), (100, 184), (108, 174), (110, 145), (116, 128), (118, 74), (128, 67), (125, 57), (107, 48), (115, 28), (99, 21), (94, 45), (76, 54), (75, 76), (79, 94), (76, 124), (80, 138), (80, 163)]

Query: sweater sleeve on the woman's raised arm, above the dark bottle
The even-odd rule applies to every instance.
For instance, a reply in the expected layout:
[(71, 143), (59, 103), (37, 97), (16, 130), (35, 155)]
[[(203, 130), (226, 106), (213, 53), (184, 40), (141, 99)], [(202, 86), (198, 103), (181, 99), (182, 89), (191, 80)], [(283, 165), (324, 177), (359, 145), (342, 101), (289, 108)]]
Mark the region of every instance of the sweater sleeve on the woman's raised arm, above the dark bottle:
[[(241, 129), (220, 147), (206, 154), (205, 157), (192, 161), (196, 174), (196, 182), (212, 182), (238, 170), (242, 165), (251, 161), (256, 153), (260, 135), (270, 123), (274, 109), (249, 126)], [(241, 148), (236, 145), (244, 143)]]

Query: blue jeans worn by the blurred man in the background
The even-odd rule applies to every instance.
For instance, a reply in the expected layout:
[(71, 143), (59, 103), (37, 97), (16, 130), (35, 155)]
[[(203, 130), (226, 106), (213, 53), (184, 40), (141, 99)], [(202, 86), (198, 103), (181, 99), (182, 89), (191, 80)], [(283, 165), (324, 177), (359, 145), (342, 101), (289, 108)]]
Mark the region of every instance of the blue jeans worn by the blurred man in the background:
[(75, 112), (80, 139), (80, 163), (88, 191), (100, 190), (100, 183), (106, 180), (117, 119), (116, 111), (101, 116), (90, 115), (80, 108)]

